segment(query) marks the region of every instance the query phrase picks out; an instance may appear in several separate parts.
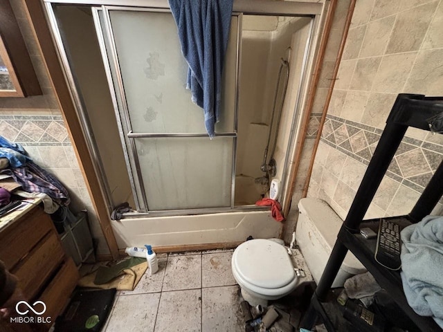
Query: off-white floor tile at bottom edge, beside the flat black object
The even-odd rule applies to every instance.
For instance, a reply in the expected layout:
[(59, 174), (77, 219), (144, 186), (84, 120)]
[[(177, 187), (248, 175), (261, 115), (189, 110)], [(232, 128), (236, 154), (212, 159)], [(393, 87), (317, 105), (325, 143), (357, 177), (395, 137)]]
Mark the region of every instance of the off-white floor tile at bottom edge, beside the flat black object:
[(106, 332), (154, 332), (160, 293), (119, 296)]

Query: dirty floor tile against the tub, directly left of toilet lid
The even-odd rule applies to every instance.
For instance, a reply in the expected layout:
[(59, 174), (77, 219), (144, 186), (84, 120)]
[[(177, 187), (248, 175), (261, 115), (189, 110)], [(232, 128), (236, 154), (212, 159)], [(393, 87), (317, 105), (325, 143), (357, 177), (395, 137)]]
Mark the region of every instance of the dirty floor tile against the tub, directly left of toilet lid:
[(201, 257), (201, 282), (203, 287), (236, 285), (230, 266), (232, 252), (217, 252)]

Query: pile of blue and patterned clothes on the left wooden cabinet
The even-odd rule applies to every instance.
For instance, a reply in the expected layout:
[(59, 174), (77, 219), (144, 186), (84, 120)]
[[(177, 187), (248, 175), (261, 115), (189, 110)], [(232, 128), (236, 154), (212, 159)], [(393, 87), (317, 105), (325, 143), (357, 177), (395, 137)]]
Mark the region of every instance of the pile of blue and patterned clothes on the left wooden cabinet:
[(71, 201), (55, 176), (35, 164), (21, 145), (0, 136), (0, 205), (9, 203), (10, 194), (42, 199), (48, 214), (67, 210)]

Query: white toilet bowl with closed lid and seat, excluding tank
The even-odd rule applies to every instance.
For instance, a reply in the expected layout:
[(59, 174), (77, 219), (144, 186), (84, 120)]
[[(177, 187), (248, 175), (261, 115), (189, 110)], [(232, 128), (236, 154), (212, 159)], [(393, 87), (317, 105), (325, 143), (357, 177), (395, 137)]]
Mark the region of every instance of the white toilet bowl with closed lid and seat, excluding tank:
[(251, 306), (267, 306), (269, 299), (291, 293), (299, 280), (287, 249), (266, 239), (240, 244), (233, 253), (233, 275)]

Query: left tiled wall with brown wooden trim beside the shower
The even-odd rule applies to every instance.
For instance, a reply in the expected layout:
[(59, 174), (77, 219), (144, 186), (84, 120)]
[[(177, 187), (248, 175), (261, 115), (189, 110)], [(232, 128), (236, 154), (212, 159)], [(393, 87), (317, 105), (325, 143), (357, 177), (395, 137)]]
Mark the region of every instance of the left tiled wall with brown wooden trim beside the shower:
[(91, 231), (98, 241), (97, 252), (106, 254), (109, 249), (62, 120), (42, 53), (28, 21), (24, 1), (11, 1), (11, 5), (43, 94), (27, 98), (0, 98), (0, 135), (11, 142), (19, 142), (35, 163), (60, 179), (71, 194), (70, 208), (73, 212), (88, 210)]

